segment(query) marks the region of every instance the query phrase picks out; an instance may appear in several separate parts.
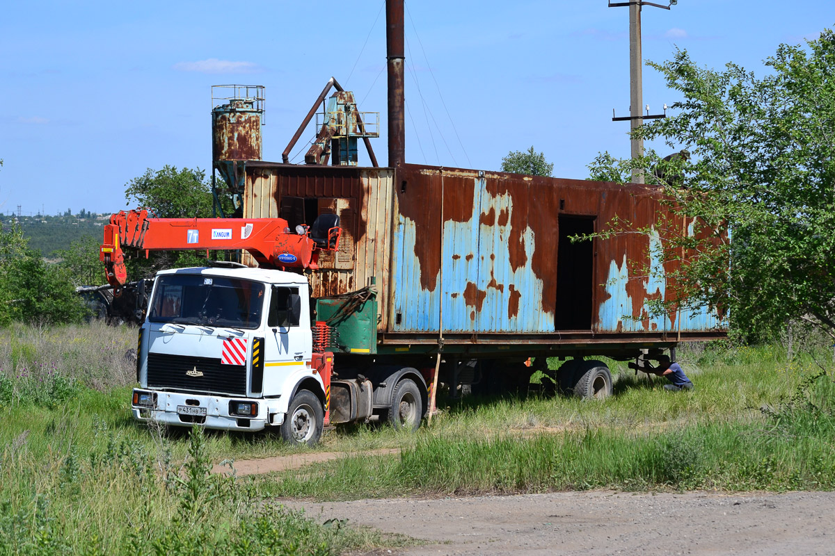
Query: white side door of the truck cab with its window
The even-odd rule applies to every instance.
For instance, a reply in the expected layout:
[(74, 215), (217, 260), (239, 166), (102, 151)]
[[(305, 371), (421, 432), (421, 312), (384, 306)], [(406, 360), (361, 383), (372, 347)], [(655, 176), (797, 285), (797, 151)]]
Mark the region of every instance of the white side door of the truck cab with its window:
[(265, 338), (265, 396), (280, 394), (286, 378), (310, 365), (310, 318), (301, 300), (298, 287), (274, 284), (271, 288)]

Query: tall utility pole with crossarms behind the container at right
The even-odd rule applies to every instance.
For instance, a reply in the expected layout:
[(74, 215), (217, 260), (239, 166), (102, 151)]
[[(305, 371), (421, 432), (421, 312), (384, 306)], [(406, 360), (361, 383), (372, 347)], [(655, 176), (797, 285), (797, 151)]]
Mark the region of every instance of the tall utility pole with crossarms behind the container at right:
[[(634, 2), (615, 2), (609, 3), (610, 8), (629, 7), (629, 77), (630, 77), (630, 115), (629, 118), (613, 118), (613, 122), (620, 122), (628, 119), (630, 121), (630, 131), (635, 133), (635, 129), (644, 125), (645, 119), (664, 118), (664, 115), (649, 114), (644, 115), (644, 88), (643, 88), (643, 70), (644, 57), (641, 53), (641, 39), (640, 39), (640, 12), (644, 6), (654, 6), (655, 8), (662, 8), (669, 10), (671, 6), (675, 6), (678, 0), (671, 0), (670, 4), (663, 6), (661, 4), (642, 2), (635, 0)], [(666, 108), (666, 107), (665, 107)], [(641, 158), (644, 156), (644, 140), (640, 138), (631, 139), (632, 159)], [(632, 170), (632, 183), (644, 183), (644, 171), (640, 168)]]

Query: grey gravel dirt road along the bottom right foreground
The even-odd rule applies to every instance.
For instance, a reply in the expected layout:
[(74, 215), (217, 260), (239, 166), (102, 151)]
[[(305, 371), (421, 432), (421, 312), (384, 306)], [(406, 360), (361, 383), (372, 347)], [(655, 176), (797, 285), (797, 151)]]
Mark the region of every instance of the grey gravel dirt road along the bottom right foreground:
[[(552, 493), (286, 502), (428, 544), (394, 554), (835, 553), (835, 493)], [(387, 554), (387, 550), (374, 554)]]

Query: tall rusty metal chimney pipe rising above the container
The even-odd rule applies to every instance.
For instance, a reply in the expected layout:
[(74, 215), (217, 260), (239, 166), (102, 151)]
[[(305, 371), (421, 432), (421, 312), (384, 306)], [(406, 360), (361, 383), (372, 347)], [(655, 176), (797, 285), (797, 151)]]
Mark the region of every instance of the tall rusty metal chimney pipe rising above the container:
[(386, 0), (386, 57), (388, 60), (388, 165), (406, 162), (406, 98), (403, 60), (403, 0)]

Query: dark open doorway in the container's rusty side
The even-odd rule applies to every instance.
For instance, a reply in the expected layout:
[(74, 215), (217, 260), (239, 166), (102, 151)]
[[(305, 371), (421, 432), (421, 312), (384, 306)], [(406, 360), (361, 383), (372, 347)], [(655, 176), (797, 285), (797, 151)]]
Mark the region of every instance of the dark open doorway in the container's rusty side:
[(594, 242), (569, 238), (595, 233), (594, 217), (559, 216), (557, 330), (590, 330), (595, 291)]

